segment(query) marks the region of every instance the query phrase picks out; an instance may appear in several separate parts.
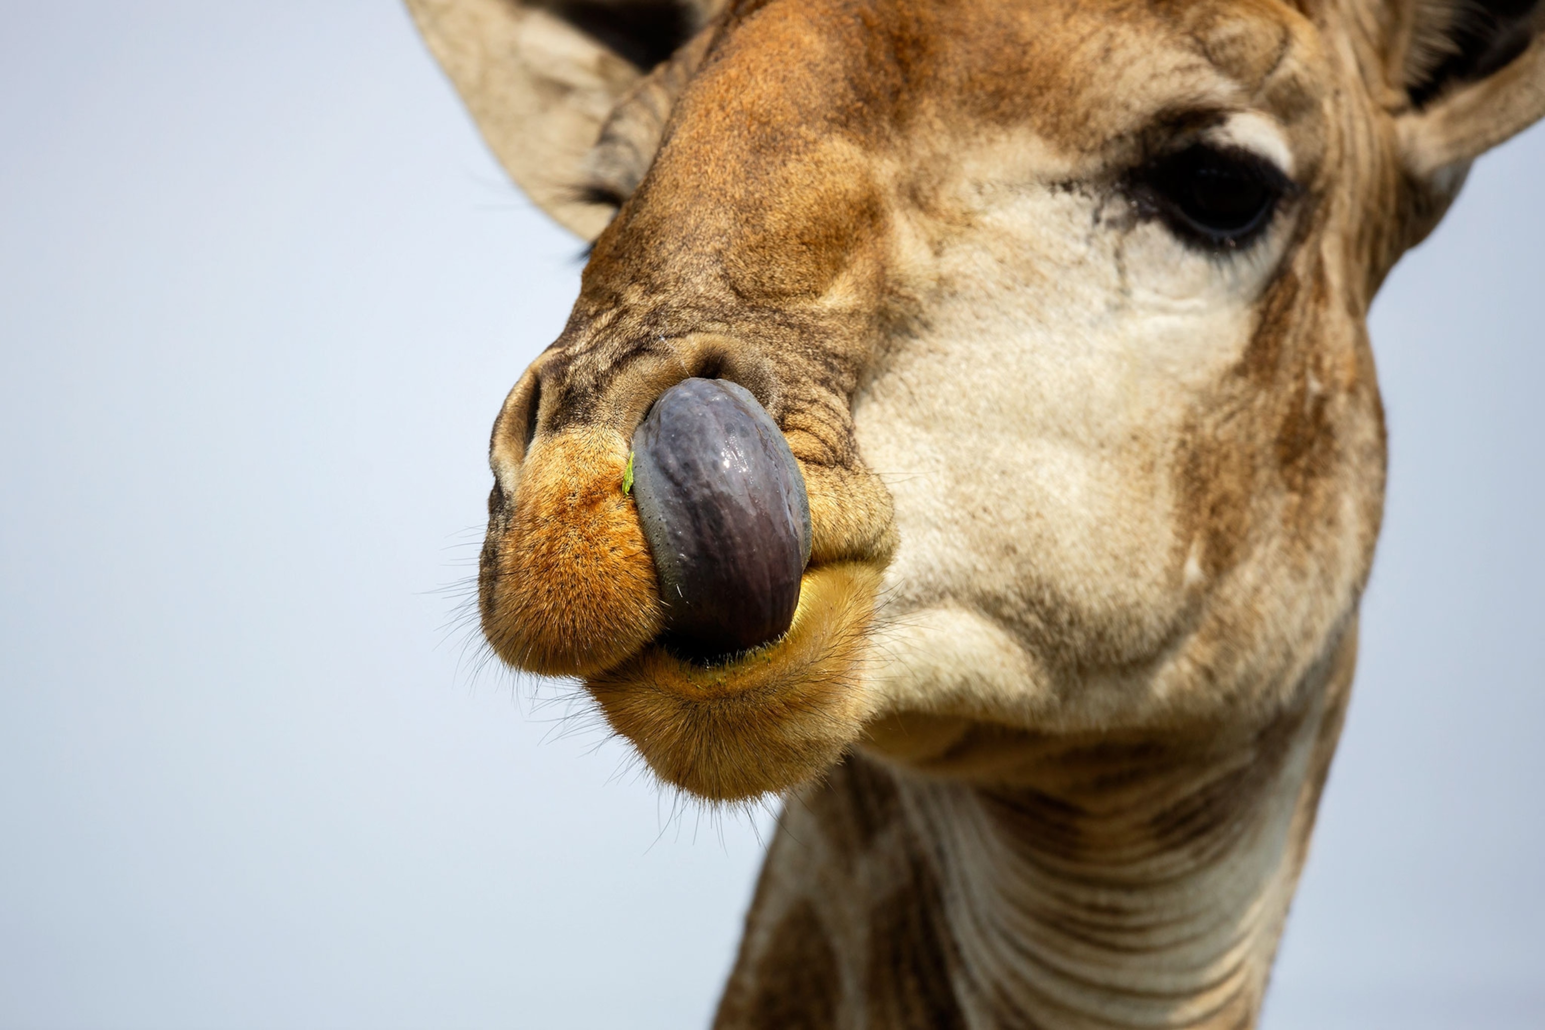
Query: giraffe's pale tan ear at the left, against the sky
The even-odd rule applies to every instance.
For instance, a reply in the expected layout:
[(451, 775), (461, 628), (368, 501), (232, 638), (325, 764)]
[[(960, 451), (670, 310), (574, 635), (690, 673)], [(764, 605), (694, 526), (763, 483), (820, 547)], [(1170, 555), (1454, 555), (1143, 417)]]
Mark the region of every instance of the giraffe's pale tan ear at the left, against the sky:
[(708, 5), (406, 2), (510, 178), (570, 232), (584, 239), (601, 235), (616, 213), (616, 196), (612, 185), (595, 188), (592, 148), (618, 102), (697, 34)]

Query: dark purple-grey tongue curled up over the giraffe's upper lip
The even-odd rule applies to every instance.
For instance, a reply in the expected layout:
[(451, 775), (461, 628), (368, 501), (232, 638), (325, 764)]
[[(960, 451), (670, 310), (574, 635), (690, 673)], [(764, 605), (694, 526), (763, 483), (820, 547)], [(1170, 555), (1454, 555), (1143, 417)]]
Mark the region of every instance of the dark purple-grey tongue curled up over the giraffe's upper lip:
[(672, 647), (715, 658), (783, 635), (810, 559), (810, 500), (772, 417), (689, 378), (633, 434), (633, 494)]

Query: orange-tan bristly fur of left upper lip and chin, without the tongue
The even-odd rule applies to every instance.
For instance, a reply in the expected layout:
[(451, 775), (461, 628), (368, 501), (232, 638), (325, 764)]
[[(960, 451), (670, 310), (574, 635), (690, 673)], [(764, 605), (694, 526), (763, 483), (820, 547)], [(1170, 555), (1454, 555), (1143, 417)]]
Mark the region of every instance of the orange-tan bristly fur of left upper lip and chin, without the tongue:
[(884, 562), (814, 567), (780, 639), (729, 664), (681, 661), (652, 642), (660, 593), (623, 493), (627, 454), (620, 432), (586, 425), (507, 468), (518, 486), (490, 517), (484, 633), (511, 666), (584, 676), (667, 783), (742, 800), (817, 777), (873, 715), (862, 673)]

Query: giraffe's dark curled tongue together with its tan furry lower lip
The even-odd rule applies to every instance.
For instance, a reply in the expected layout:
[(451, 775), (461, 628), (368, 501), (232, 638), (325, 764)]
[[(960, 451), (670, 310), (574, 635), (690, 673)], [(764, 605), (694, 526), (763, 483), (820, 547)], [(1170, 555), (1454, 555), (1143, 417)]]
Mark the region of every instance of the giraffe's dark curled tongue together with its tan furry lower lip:
[(666, 781), (745, 798), (808, 780), (864, 723), (878, 573), (808, 568), (799, 462), (745, 388), (688, 378), (633, 432), (629, 469), (663, 632), (587, 686)]

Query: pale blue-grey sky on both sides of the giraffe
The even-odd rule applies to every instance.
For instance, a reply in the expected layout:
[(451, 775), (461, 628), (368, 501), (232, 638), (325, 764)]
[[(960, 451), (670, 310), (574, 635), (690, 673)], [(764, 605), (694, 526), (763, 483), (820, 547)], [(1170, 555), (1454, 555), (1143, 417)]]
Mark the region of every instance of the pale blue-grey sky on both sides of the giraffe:
[[(578, 244), (389, 0), (3, 11), (0, 1027), (705, 1025), (751, 822), (442, 629)], [(1486, 158), (1375, 307), (1387, 523), (1267, 1030), (1545, 1025), (1542, 171)]]

